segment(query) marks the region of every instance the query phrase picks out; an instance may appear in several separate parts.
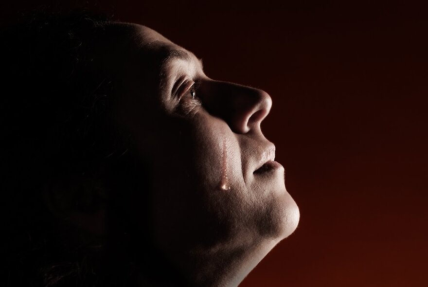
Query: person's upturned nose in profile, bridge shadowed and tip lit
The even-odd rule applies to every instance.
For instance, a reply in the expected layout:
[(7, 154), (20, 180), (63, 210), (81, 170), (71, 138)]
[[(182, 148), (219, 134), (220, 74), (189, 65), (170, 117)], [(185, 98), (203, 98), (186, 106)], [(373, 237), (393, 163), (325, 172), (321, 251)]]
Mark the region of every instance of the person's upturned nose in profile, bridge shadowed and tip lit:
[(235, 133), (260, 128), (272, 107), (272, 99), (263, 90), (218, 81), (209, 87), (204, 96), (207, 110), (226, 121)]

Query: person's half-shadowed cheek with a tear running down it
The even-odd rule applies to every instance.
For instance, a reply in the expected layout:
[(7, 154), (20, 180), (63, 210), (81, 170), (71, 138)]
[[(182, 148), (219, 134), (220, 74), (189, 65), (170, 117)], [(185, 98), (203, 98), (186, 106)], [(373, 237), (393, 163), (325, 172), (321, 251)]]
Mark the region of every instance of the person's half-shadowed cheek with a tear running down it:
[[(249, 202), (244, 197), (239, 144), (223, 121), (199, 118), (193, 123), (171, 131), (171, 148), (156, 161), (153, 225), (158, 242), (227, 241), (245, 218)], [(222, 188), (224, 184), (230, 189)]]

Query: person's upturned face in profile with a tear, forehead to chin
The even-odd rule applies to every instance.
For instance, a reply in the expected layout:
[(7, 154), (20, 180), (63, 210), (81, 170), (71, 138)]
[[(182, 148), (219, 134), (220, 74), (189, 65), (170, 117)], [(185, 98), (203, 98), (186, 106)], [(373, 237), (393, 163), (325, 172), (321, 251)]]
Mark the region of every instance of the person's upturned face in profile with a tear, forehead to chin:
[(273, 248), (299, 210), (260, 129), (270, 96), (209, 78), (194, 54), (147, 27), (115, 25), (126, 31), (112, 52), (117, 113), (149, 165), (154, 242), (173, 260)]

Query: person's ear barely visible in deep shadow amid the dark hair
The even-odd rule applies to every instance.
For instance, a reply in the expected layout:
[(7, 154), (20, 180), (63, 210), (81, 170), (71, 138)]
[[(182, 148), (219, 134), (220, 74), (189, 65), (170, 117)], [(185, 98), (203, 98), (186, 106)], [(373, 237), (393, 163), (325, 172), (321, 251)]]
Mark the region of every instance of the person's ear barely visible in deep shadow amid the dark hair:
[(43, 199), (57, 217), (93, 235), (106, 234), (107, 197), (102, 181), (85, 176), (52, 179)]

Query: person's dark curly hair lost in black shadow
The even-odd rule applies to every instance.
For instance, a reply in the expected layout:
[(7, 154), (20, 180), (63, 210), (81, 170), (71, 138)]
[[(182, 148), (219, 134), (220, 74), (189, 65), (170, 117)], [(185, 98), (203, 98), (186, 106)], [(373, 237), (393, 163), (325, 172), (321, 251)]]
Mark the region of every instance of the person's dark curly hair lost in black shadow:
[[(106, 173), (127, 150), (112, 123), (114, 75), (100, 68), (93, 51), (110, 20), (86, 11), (38, 13), (1, 31), (1, 228), (7, 239), (1, 286), (104, 285), (95, 263), (102, 259), (94, 255), (102, 243), (67, 246), (59, 238), (63, 222), (49, 213), (41, 193), (47, 180)], [(102, 200), (92, 197), (82, 208)]]

